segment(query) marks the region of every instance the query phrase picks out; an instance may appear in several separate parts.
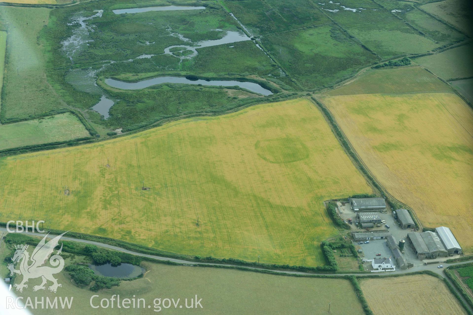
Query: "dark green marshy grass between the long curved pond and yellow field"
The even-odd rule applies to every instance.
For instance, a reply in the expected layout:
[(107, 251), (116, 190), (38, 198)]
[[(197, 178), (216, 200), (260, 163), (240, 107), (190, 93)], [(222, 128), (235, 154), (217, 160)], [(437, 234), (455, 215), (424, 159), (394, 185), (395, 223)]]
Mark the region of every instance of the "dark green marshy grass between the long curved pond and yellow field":
[(164, 116), (184, 116), (191, 113), (225, 112), (244, 106), (254, 98), (263, 98), (242, 90), (224, 87), (204, 87), (183, 84), (159, 84), (142, 90), (119, 90), (99, 81), (105, 91), (118, 101), (110, 109), (110, 117), (100, 120), (92, 114), (92, 120), (111, 129), (138, 124)]

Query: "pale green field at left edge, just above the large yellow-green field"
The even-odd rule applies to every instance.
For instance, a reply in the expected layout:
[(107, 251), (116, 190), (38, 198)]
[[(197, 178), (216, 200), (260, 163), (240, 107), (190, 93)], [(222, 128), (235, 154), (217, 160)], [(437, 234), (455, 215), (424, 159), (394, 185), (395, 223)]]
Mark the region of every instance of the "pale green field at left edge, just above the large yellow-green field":
[(70, 113), (64, 113), (0, 125), (0, 150), (88, 136), (90, 134), (79, 118)]

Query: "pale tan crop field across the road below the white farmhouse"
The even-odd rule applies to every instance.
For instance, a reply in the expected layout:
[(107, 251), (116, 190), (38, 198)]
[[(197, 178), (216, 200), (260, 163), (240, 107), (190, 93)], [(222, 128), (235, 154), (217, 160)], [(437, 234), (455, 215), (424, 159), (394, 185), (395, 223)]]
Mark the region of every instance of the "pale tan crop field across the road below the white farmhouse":
[[(361, 290), (375, 315), (467, 314), (445, 283), (426, 274), (361, 280)], [(389, 288), (391, 296), (373, 288)]]

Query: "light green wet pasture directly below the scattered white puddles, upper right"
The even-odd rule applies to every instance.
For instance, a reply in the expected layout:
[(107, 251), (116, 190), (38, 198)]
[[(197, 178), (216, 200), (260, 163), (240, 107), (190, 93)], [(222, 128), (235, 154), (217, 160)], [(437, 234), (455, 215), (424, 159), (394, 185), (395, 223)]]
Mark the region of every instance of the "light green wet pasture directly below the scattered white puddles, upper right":
[[(329, 8), (327, 5), (325, 7)], [(330, 8), (336, 7), (338, 5), (330, 4)], [(350, 35), (355, 36), (382, 58), (425, 53), (440, 46), (381, 7), (378, 7), (376, 11), (373, 9), (361, 10), (361, 12), (340, 10), (334, 13), (327, 12), (327, 14), (340, 23)]]

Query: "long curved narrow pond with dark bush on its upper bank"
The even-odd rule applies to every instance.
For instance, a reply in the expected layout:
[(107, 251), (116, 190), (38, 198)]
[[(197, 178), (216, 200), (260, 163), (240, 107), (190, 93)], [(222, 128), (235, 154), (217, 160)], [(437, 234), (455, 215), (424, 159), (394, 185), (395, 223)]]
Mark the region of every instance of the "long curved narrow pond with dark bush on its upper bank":
[(105, 83), (111, 87), (123, 90), (140, 90), (152, 85), (161, 83), (185, 83), (185, 84), (202, 84), (211, 86), (239, 86), (246, 90), (263, 95), (271, 95), (272, 92), (263, 88), (261, 85), (253, 82), (239, 82), (239, 81), (219, 81), (219, 80), (189, 80), (181, 76), (159, 76), (157, 78), (141, 80), (138, 82), (124, 82), (115, 79), (105, 79)]

